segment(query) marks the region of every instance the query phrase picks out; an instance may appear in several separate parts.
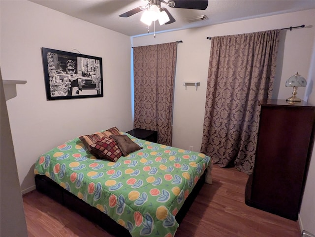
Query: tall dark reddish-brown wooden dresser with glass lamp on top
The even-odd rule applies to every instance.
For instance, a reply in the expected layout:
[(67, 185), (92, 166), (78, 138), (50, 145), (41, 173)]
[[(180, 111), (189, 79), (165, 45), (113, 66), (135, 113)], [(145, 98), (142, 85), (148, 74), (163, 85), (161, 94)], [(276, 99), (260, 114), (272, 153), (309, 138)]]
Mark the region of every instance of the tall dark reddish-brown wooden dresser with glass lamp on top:
[(267, 100), (260, 105), (255, 164), (245, 202), (297, 220), (313, 147), (315, 107), (285, 100)]

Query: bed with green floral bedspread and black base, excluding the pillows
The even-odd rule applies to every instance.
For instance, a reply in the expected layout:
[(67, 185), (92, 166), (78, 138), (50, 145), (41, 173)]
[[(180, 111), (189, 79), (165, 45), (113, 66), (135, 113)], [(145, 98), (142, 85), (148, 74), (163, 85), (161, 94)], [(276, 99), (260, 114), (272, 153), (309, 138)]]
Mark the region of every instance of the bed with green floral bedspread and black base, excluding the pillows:
[(211, 175), (210, 157), (119, 134), (139, 148), (116, 162), (100, 159), (82, 137), (42, 154), (36, 189), (113, 235), (174, 236)]

